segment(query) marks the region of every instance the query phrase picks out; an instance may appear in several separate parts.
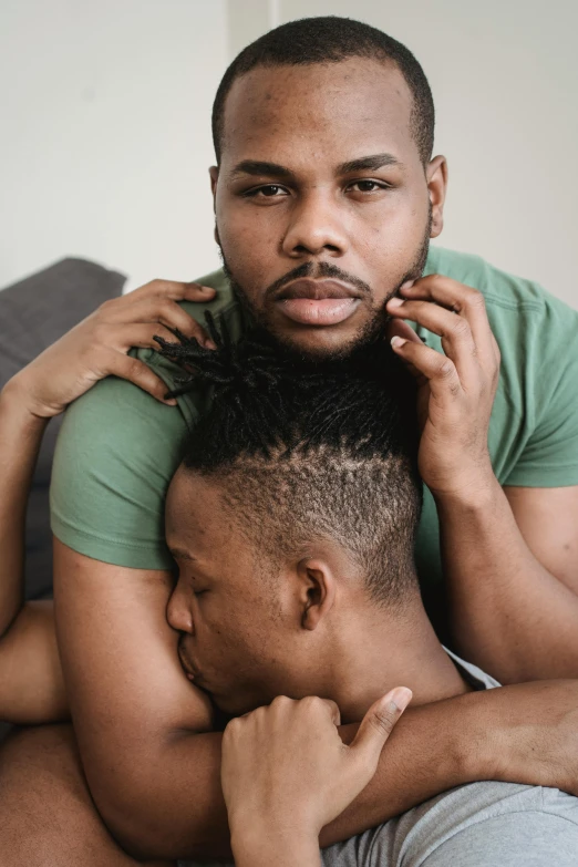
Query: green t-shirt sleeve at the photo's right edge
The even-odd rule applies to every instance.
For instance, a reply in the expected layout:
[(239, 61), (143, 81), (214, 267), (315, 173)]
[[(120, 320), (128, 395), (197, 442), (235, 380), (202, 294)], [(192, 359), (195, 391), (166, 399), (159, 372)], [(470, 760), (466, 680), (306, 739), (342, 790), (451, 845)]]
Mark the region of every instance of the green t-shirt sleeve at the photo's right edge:
[[(543, 290), (544, 291), (544, 290)], [(578, 485), (578, 312), (544, 292), (525, 349), (528, 437), (505, 485)]]

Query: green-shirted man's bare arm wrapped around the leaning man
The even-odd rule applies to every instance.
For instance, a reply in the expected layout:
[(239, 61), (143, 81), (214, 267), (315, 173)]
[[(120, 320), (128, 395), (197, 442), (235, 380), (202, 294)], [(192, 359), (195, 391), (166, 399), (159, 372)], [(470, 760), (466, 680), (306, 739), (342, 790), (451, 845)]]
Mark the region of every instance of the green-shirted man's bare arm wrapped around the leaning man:
[[(142, 859), (226, 857), (221, 735), (207, 732), (210, 708), (177, 661), (164, 615), (168, 575), (102, 564), (58, 541), (55, 570), (74, 727), (106, 825)], [(474, 780), (576, 785), (577, 699), (578, 683), (550, 682), (406, 711), (373, 781), (322, 832), (322, 845)], [(340, 730), (345, 741), (355, 731)]]

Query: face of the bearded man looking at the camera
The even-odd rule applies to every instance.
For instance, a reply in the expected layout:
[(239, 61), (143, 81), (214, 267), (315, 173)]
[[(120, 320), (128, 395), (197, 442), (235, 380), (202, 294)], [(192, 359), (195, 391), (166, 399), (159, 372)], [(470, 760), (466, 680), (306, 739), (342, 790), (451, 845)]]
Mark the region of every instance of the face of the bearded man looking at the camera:
[(412, 105), (395, 66), (363, 58), (257, 68), (227, 96), (210, 169), (225, 269), (255, 320), (300, 354), (373, 339), (442, 230), (445, 159), (424, 168)]

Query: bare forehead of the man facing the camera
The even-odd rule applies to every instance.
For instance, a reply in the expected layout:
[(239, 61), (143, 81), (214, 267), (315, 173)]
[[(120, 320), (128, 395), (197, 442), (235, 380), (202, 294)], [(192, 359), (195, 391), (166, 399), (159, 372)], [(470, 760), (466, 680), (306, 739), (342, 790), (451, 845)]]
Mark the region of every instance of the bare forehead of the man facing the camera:
[[(392, 64), (353, 58), (258, 66), (239, 76), (227, 96), (224, 149), (237, 163), (264, 141), (285, 140), (290, 149), (316, 141), (327, 148), (339, 136), (349, 154), (381, 153), (392, 149), (386, 140), (407, 143), (411, 109), (410, 89)], [(374, 144), (363, 147), (368, 137)]]

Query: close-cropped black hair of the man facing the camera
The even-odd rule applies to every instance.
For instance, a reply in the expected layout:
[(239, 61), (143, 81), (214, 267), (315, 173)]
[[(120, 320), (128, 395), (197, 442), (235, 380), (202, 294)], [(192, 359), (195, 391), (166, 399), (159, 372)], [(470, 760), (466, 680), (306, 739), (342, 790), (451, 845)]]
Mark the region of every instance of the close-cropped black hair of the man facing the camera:
[(432, 158), (435, 112), (425, 73), (412, 52), (383, 31), (351, 18), (302, 18), (270, 30), (247, 45), (229, 65), (213, 103), (213, 142), (220, 164), (225, 127), (225, 101), (236, 79), (256, 66), (338, 63), (370, 58), (393, 63), (410, 87), (413, 106), (411, 131), (424, 166)]

